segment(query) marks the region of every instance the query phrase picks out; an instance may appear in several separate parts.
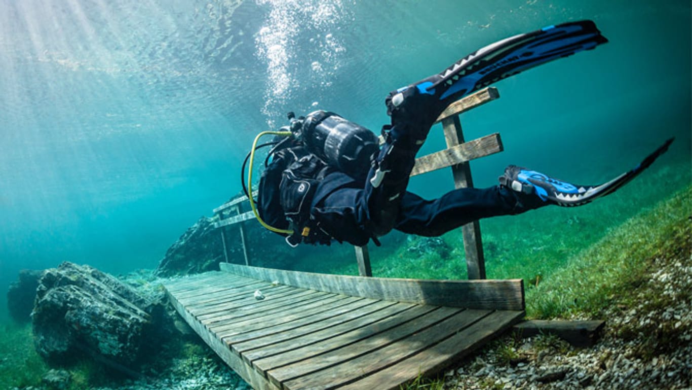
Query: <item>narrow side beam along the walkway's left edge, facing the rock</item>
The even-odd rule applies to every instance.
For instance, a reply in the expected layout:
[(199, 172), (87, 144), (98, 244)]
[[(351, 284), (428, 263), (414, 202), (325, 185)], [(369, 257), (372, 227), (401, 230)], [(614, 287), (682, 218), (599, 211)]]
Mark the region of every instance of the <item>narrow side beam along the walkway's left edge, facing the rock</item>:
[(212, 333), (208, 332), (204, 326), (194, 319), (192, 317), (192, 314), (188, 313), (187, 310), (185, 310), (185, 306), (181, 305), (176, 299), (173, 294), (171, 294), (169, 291), (166, 291), (166, 294), (168, 296), (168, 299), (172, 303), (173, 307), (175, 310), (178, 312), (178, 314), (183, 317), (185, 322), (187, 322), (192, 330), (194, 330), (201, 339), (214, 350), (214, 352), (221, 357), (221, 360), (224, 360), (228, 366), (230, 366), (233, 371), (235, 371), (238, 375), (240, 375), (245, 382), (248, 382), (253, 389), (255, 390), (281, 390), (280, 387), (276, 387), (271, 382), (266, 380), (263, 375), (252, 369), (250, 366), (247, 364), (244, 364), (243, 360), (241, 357), (238, 355), (235, 355), (233, 352), (230, 351), (228, 346), (221, 342), (220, 339), (217, 339)]

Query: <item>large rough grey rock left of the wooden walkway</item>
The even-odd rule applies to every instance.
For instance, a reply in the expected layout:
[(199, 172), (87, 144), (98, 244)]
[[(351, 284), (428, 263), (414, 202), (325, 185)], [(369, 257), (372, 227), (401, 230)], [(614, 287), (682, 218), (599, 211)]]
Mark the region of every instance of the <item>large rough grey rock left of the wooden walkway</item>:
[(51, 362), (88, 356), (134, 366), (172, 325), (161, 296), (143, 296), (109, 274), (62, 263), (39, 280), (32, 314), (36, 349)]

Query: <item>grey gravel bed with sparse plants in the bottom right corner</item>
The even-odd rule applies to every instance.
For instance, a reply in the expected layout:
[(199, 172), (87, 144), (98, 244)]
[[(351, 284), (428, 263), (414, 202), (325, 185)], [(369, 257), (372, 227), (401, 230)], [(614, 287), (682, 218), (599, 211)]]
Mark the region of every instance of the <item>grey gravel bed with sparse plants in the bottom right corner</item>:
[(605, 311), (603, 337), (503, 337), (444, 376), (444, 389), (691, 389), (692, 266), (656, 260), (633, 304)]

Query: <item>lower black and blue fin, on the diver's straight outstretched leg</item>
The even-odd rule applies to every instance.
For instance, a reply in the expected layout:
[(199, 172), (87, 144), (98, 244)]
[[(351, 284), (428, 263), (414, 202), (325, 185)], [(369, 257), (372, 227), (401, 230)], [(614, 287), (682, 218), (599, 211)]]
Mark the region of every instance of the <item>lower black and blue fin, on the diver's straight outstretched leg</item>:
[[(614, 193), (625, 184), (628, 184), (632, 179), (641, 174), (641, 172), (644, 172), (653, 161), (664, 154), (671, 143), (673, 143), (673, 138), (668, 139), (635, 168), (596, 186), (570, 184), (566, 181), (543, 175), (543, 173), (518, 166), (507, 167), (504, 175), (500, 177), (500, 184), (521, 194), (520, 200), (528, 200), (529, 202), (527, 203), (533, 203), (534, 206), (538, 206), (540, 202), (565, 207), (581, 206), (599, 197)], [(530, 200), (528, 197), (533, 197), (534, 199)]]

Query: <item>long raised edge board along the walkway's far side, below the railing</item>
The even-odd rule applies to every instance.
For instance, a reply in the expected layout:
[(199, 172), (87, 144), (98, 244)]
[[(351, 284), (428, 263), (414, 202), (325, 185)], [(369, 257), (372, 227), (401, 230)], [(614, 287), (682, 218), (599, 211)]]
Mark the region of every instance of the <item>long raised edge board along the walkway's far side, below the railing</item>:
[(284, 285), (399, 301), (468, 309), (524, 310), (521, 279), (502, 281), (426, 281), (313, 274), (282, 269), (220, 264), (221, 270), (248, 278), (278, 281)]

